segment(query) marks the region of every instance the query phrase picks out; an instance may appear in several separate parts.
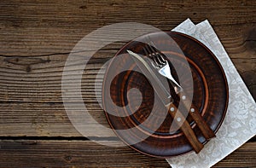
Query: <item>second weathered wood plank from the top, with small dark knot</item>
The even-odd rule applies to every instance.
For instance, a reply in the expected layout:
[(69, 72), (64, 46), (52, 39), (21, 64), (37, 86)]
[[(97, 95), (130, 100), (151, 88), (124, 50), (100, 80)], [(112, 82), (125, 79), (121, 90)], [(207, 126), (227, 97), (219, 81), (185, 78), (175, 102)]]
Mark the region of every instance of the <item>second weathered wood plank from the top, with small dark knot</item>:
[[(84, 100), (89, 101), (95, 98), (95, 80), (96, 75), (104, 62), (110, 58), (108, 54), (102, 53), (102, 56), (108, 58), (98, 58), (98, 63), (88, 64), (84, 70), (82, 78), (82, 91)], [(0, 99), (1, 101), (38, 101), (38, 102), (61, 102), (61, 78), (63, 67), (65, 66), (65, 59), (67, 55), (62, 55), (62, 58), (58, 55), (47, 58), (49, 61), (38, 58), (39, 61), (44, 63), (38, 64), (25, 64), (25, 63), (9, 63), (5, 58), (0, 58)], [(256, 67), (256, 55), (252, 54), (252, 51), (241, 53), (240, 56), (243, 58), (234, 58), (232, 61), (235, 63), (237, 70), (241, 73), (249, 89), (252, 88), (251, 93), (255, 97), (256, 90), (253, 90), (256, 84), (256, 78), (252, 78), (255, 74)], [(60, 61), (57, 59), (60, 58)], [(66, 57), (67, 58), (67, 57)], [(13, 58), (13, 60), (18, 58)], [(26, 57), (25, 61), (29, 62), (30, 59), (35, 61), (33, 57)], [(42, 59), (42, 60), (41, 60)], [(51, 61), (51, 59), (53, 61)], [(8, 59), (9, 61), (11, 59)], [(13, 61), (11, 60), (11, 61)], [(20, 62), (22, 58), (19, 59)], [(19, 62), (19, 60), (17, 62)], [(100, 63), (102, 61), (102, 63)], [(29, 67), (29, 72), (27, 68)], [(68, 74), (71, 76), (70, 84), (73, 84), (73, 79), (79, 79), (79, 75), (76, 74), (76, 65), (70, 67), (73, 71), (69, 71)], [(102, 75), (103, 78), (103, 75)], [(101, 78), (101, 79), (102, 79)], [(97, 81), (100, 82), (100, 81)], [(100, 91), (101, 88), (96, 88)]]

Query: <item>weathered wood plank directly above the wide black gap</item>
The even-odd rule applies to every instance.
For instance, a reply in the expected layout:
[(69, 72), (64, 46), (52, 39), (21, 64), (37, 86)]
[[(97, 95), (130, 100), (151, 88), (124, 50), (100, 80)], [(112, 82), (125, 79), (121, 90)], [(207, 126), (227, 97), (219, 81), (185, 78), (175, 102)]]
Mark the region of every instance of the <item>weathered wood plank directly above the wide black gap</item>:
[[(109, 128), (105, 114), (98, 104), (90, 103), (86, 107), (96, 122)], [(0, 103), (0, 109), (0, 137), (81, 136), (68, 119), (61, 103)], [(89, 130), (96, 129), (91, 123), (84, 121), (83, 124)], [(97, 130), (97, 133), (100, 134), (101, 131), (104, 130)]]

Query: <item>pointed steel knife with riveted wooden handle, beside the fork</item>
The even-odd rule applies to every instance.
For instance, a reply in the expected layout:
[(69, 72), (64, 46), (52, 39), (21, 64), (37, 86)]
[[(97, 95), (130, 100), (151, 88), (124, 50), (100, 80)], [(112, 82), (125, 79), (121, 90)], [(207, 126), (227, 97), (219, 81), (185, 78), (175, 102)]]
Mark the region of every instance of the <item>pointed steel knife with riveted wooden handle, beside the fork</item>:
[(199, 140), (195, 136), (194, 130), (192, 130), (192, 128), (190, 127), (188, 121), (183, 116), (183, 113), (181, 113), (172, 103), (171, 94), (166, 90), (166, 87), (156, 76), (153, 68), (150, 67), (150, 63), (148, 63), (148, 58), (143, 58), (143, 56), (137, 55), (131, 50), (127, 50), (127, 52), (129, 53), (129, 55), (131, 55), (133, 61), (136, 62), (137, 67), (139, 67), (143, 74), (148, 78), (156, 94), (160, 97), (160, 100), (167, 108), (168, 113), (171, 114), (173, 121), (175, 121), (175, 123), (180, 127), (180, 129), (183, 131), (184, 136), (186, 136), (186, 138), (188, 139), (189, 144), (195, 150), (195, 153), (198, 154), (203, 148), (203, 144), (201, 144), (201, 142), (199, 142)]

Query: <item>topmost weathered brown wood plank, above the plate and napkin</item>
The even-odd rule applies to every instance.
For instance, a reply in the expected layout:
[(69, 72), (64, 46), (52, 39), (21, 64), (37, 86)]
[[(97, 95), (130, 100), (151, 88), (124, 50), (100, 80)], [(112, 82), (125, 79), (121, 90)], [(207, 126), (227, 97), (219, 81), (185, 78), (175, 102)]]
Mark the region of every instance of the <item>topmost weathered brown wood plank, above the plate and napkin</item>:
[(67, 53), (89, 32), (122, 21), (167, 31), (188, 17), (195, 22), (208, 19), (220, 38), (243, 34), (255, 25), (253, 1), (1, 1), (0, 7), (3, 55)]

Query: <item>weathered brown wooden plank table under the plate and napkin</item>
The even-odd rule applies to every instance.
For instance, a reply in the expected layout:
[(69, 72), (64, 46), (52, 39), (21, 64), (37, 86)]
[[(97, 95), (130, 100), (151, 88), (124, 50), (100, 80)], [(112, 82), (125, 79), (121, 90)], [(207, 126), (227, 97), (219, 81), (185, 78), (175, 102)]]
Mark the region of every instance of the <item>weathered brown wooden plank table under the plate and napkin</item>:
[[(136, 21), (169, 31), (183, 20), (208, 19), (238, 72), (256, 96), (256, 1), (94, 2), (2, 0), (0, 2), (0, 167), (167, 167), (165, 159), (91, 142), (74, 129), (61, 99), (68, 54), (88, 33)], [(125, 42), (99, 51), (84, 71), (84, 101), (102, 125), (96, 106), (96, 70)], [(97, 141), (115, 143), (112, 137)], [(255, 138), (214, 167), (255, 167)]]

